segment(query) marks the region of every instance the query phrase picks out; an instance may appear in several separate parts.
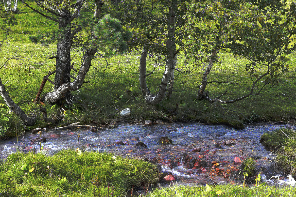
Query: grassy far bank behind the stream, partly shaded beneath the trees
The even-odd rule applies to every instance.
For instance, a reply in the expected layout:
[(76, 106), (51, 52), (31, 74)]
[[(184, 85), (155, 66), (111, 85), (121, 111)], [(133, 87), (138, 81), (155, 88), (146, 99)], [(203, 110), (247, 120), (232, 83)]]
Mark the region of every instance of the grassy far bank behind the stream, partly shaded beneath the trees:
[[(18, 24), (12, 27), (12, 34), (6, 38), (7, 43), (1, 47), (0, 65), (15, 56), (19, 59), (8, 61), (0, 70), (2, 81), (12, 99), (26, 112), (38, 110), (38, 105), (33, 103), (43, 77), (48, 71), (54, 71), (55, 61), (48, 59), (56, 53), (56, 45), (43, 46), (33, 44), (29, 40), (30, 35), (36, 35), (38, 31), (57, 29), (57, 24), (40, 17), (38, 14), (20, 6), (20, 14), (16, 15)], [(3, 32), (0, 36), (4, 39)], [(17, 53), (15, 53), (17, 51)], [(72, 51), (74, 67), (79, 68), (81, 51)], [(190, 67), (184, 63), (184, 57), (178, 56), (177, 68), (190, 72), (176, 77), (173, 96), (170, 100), (163, 100), (160, 105), (147, 105), (139, 89), (139, 53), (125, 53), (108, 58), (111, 64), (106, 69), (103, 58), (95, 58), (86, 81), (77, 94), (78, 100), (88, 107), (86, 111), (80, 104), (69, 108), (64, 104), (64, 112), (59, 105), (46, 105), (49, 117), (60, 118), (60, 124), (81, 122), (86, 124), (106, 124), (112, 119), (120, 119), (118, 113), (124, 108), (131, 108), (132, 114), (129, 120), (135, 118), (163, 119), (170, 118), (173, 121), (202, 121), (205, 123), (225, 123), (234, 126), (242, 126), (248, 121), (283, 121), (293, 120), (296, 117), (295, 98), (296, 89), (294, 79), (295, 72), (288, 72), (280, 77), (280, 84), (266, 89), (258, 96), (250, 96), (242, 101), (228, 104), (209, 104), (207, 101), (196, 100), (198, 85), (202, 79), (204, 67)], [(231, 81), (239, 84), (208, 84), (210, 95), (218, 96), (229, 90), (224, 100), (240, 97), (250, 90), (250, 78), (247, 75), (243, 59), (228, 53), (220, 53), (223, 60), (221, 66), (214, 66), (211, 81)], [(120, 63), (117, 63), (120, 61)], [(288, 56), (287, 61), (290, 71), (295, 69), (295, 53)], [(147, 61), (147, 71), (154, 69), (154, 60)], [(158, 85), (162, 78), (164, 66), (158, 66), (152, 75), (147, 77), (151, 92), (158, 91)], [(259, 71), (260, 74), (260, 71)], [(73, 71), (73, 75), (76, 73)], [(51, 80), (54, 76), (50, 77)], [(52, 90), (52, 84), (47, 82), (42, 94)], [(131, 93), (129, 93), (129, 91)], [(178, 107), (177, 107), (178, 105)], [(223, 108), (225, 109), (223, 109)], [(238, 113), (235, 113), (236, 111)], [(16, 128), (23, 130), (19, 119), (11, 113), (9, 108), (0, 100), (0, 135), (14, 136)], [(38, 125), (44, 124), (41, 118)], [(9, 128), (9, 129), (7, 129)], [(7, 133), (8, 131), (8, 133)]]

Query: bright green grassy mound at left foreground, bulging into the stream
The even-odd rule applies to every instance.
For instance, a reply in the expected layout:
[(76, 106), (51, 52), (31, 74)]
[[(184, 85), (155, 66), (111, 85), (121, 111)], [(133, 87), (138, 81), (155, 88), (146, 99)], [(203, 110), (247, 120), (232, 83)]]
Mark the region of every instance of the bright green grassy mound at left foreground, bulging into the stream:
[(11, 154), (0, 171), (0, 196), (11, 197), (124, 196), (133, 185), (151, 185), (159, 176), (157, 168), (145, 161), (96, 152), (78, 155), (73, 150), (52, 157)]

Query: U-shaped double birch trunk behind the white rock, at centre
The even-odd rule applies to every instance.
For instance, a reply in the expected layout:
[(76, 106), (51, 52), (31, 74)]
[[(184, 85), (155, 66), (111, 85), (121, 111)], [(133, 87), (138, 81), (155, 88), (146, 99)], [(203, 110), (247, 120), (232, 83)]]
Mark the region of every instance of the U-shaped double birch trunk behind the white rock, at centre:
[(150, 105), (156, 105), (160, 103), (164, 97), (167, 90), (168, 82), (170, 79), (170, 74), (173, 67), (174, 58), (176, 56), (176, 43), (174, 40), (175, 35), (175, 9), (176, 4), (172, 4), (169, 9), (169, 17), (168, 17), (168, 40), (166, 43), (166, 56), (167, 61), (165, 63), (165, 71), (163, 73), (163, 79), (160, 83), (160, 89), (157, 93), (157, 95), (152, 95), (149, 91), (149, 88), (147, 87), (146, 83), (146, 59), (147, 59), (147, 49), (144, 48), (141, 53), (140, 58), (140, 87), (144, 93), (145, 100)]

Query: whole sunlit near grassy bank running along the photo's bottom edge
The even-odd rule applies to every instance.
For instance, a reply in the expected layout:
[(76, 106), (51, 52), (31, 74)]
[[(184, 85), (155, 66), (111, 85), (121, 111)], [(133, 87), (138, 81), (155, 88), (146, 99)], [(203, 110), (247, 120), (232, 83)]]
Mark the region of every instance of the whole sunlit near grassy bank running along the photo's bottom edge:
[[(159, 172), (149, 162), (111, 154), (63, 150), (53, 156), (15, 153), (0, 163), (0, 196), (131, 196), (157, 183)], [(258, 183), (259, 185), (259, 183)], [(142, 196), (294, 196), (295, 187), (242, 185), (178, 186), (153, 188)]]

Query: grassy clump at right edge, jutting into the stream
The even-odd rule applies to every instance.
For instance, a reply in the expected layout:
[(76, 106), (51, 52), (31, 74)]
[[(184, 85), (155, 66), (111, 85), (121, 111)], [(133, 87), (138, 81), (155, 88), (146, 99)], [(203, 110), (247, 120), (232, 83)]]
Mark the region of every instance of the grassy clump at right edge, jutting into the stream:
[(263, 133), (261, 142), (274, 150), (278, 155), (276, 165), (284, 173), (296, 174), (296, 133), (293, 129), (277, 129), (273, 132)]

